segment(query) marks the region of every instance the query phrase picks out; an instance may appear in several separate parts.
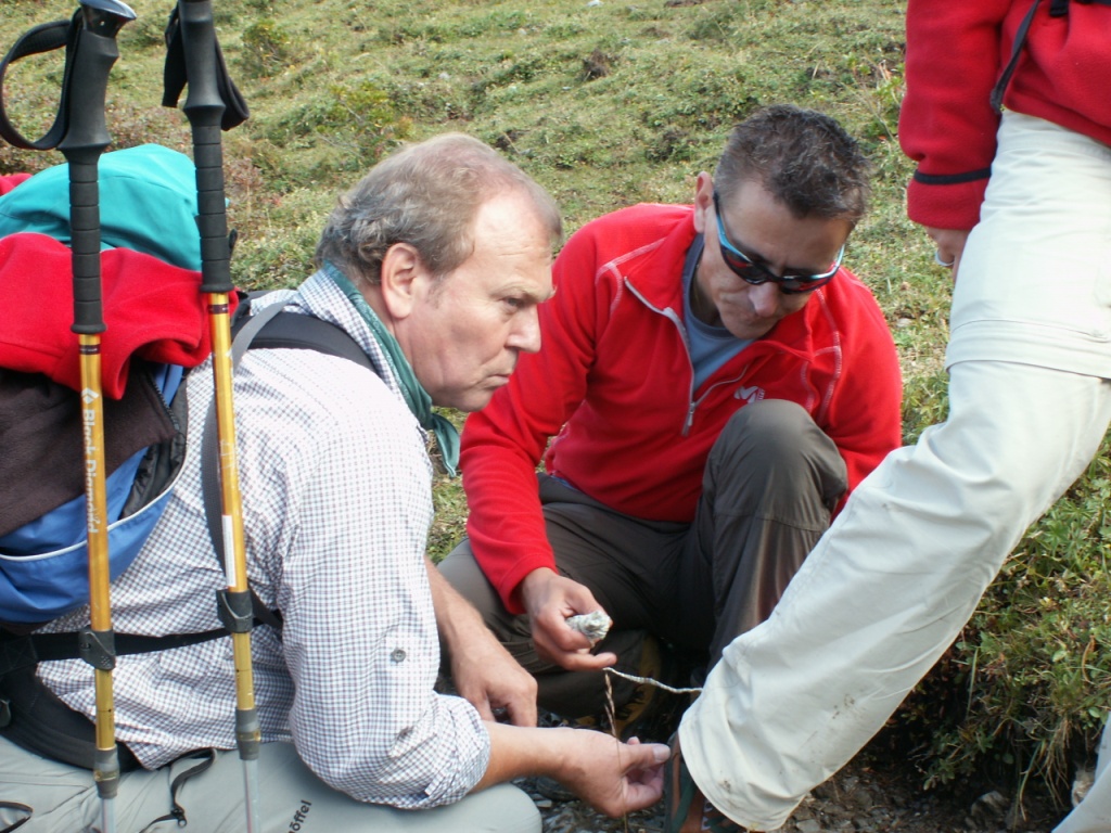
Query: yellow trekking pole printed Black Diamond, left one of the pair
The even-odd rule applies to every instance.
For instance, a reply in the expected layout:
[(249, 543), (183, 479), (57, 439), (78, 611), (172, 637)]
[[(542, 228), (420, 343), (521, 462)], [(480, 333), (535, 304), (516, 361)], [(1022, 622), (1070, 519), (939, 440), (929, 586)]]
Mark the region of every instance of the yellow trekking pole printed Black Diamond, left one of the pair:
[(134, 12), (119, 0), (82, 0), (68, 76), (67, 128), (58, 149), (69, 162), (70, 237), (73, 252), (73, 332), (81, 362), (82, 445), (86, 522), (89, 535), (90, 628), (81, 633), (81, 655), (93, 668), (97, 699), (97, 752), (93, 777), (101, 804), (101, 831), (116, 831), (120, 763), (116, 745), (112, 633), (108, 565), (108, 502), (104, 471), (104, 418), (100, 378), (100, 334), (106, 327), (100, 298), (100, 189), (97, 169), (111, 141), (104, 126), (108, 73), (119, 57), (116, 34)]

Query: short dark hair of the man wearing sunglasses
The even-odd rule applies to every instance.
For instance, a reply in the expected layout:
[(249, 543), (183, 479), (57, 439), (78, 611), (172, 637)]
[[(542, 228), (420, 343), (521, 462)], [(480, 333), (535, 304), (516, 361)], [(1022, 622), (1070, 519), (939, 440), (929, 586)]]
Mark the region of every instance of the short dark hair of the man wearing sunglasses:
[(832, 118), (793, 104), (772, 104), (733, 128), (714, 170), (722, 200), (748, 180), (799, 218), (848, 220), (868, 209), (871, 163)]

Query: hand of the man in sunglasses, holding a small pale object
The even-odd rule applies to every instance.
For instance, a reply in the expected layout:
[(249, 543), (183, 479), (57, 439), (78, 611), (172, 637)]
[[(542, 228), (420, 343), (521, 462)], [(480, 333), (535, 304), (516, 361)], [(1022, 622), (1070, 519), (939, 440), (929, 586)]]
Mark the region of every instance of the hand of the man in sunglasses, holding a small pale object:
[(594, 594), (552, 570), (533, 570), (521, 582), (521, 603), (532, 622), (537, 653), (568, 671), (601, 671), (618, 661), (613, 653), (590, 653), (590, 640), (567, 624), (568, 616), (601, 610)]

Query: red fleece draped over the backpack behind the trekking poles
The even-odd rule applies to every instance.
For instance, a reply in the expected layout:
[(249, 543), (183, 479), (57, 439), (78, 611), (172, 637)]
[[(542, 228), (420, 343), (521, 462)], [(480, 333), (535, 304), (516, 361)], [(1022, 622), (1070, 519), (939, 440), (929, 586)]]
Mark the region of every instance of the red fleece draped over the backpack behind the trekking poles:
[[(211, 352), (201, 273), (129, 249), (101, 253), (103, 393), (123, 395), (132, 355), (192, 368)], [(231, 311), (238, 299), (231, 294)], [(81, 389), (69, 247), (44, 234), (0, 239), (0, 367)]]

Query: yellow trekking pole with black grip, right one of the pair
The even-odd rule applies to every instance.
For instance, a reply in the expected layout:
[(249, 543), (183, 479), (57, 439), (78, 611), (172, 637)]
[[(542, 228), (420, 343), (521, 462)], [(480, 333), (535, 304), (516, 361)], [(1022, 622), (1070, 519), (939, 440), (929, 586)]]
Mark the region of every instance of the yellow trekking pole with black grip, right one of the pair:
[[(247, 796), (247, 830), (259, 824), (258, 759), (262, 733), (254, 706), (254, 675), (251, 669), (250, 585), (243, 542), (242, 496), (236, 451), (236, 422), (231, 380), (231, 281), (228, 221), (224, 209), (223, 152), (220, 139), (224, 118), (221, 84), (230, 87), (220, 58), (210, 0), (178, 0), (180, 43), (184, 54), (189, 94), (182, 109), (189, 119), (197, 167), (197, 224), (201, 235), (201, 292), (208, 298), (212, 331), (212, 380), (220, 446), (220, 495), (223, 550), (228, 563), (227, 590), (220, 591), (220, 618), (231, 632), (236, 665), (236, 744), (243, 761)], [(171, 19), (171, 27), (173, 20)], [(171, 44), (171, 52), (173, 46)], [(169, 71), (169, 70), (168, 70)], [(166, 101), (163, 100), (163, 103)], [(246, 118), (246, 117), (244, 117)], [(238, 122), (237, 122), (238, 123)]]

